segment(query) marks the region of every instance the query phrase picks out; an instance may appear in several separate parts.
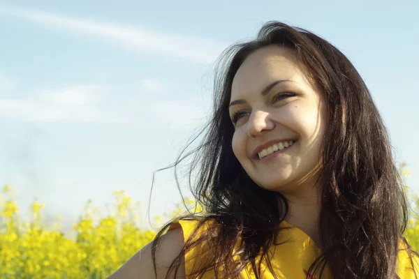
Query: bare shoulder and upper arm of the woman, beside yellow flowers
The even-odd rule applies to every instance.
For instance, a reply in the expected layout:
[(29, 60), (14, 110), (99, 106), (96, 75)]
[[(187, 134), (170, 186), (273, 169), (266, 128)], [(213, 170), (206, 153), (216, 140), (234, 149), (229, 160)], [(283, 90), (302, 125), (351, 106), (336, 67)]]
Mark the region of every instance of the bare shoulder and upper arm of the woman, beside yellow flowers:
[[(135, 253), (121, 268), (113, 273), (108, 279), (148, 279), (156, 278), (152, 261), (152, 246), (150, 242)], [(156, 247), (157, 278), (165, 278), (170, 264), (179, 255), (184, 244), (182, 227), (171, 227), (166, 234), (161, 236)], [(184, 278), (184, 260), (177, 272), (177, 278)], [(174, 278), (171, 276), (170, 278)]]

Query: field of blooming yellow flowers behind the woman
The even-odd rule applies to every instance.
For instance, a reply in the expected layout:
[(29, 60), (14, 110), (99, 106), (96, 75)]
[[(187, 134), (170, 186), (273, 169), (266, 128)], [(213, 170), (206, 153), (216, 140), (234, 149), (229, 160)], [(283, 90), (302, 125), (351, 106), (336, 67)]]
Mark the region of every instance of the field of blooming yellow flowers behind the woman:
[[(34, 202), (29, 222), (23, 221), (12, 194), (9, 186), (0, 193), (2, 279), (106, 278), (155, 236), (154, 231), (140, 229), (135, 224), (136, 210), (123, 191), (114, 193), (116, 211), (109, 216), (95, 218), (95, 208), (88, 202), (80, 221), (73, 227), (74, 239), (61, 233), (59, 222), (48, 227), (43, 223), (43, 204)], [(191, 200), (187, 202), (192, 204)], [(182, 207), (178, 204), (171, 215), (180, 211)], [(154, 227), (159, 227), (161, 220), (155, 221)], [(419, 250), (418, 218), (410, 221), (405, 236)]]

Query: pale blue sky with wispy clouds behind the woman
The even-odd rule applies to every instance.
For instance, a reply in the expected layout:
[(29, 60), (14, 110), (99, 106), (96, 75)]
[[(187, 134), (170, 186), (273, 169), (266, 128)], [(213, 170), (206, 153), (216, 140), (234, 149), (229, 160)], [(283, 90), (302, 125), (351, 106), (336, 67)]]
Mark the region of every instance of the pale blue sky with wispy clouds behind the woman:
[[(416, 1), (0, 1), (0, 184), (71, 226), (87, 199), (147, 205), (210, 110), (219, 53), (267, 20), (330, 40), (360, 71), (419, 190)], [(187, 195), (186, 187), (183, 188)], [(156, 176), (151, 215), (180, 197)]]

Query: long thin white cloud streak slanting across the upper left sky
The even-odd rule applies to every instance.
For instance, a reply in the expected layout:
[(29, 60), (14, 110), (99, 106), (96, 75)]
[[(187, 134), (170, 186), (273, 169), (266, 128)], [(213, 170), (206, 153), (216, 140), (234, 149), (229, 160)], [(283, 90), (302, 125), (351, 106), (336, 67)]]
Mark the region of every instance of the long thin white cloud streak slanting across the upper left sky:
[(38, 24), (68, 31), (77, 31), (90, 36), (106, 38), (124, 47), (139, 51), (154, 52), (191, 59), (199, 63), (212, 63), (225, 47), (223, 43), (208, 38), (175, 35), (131, 27), (110, 22), (68, 17), (27, 8), (0, 6), (0, 15), (8, 15)]

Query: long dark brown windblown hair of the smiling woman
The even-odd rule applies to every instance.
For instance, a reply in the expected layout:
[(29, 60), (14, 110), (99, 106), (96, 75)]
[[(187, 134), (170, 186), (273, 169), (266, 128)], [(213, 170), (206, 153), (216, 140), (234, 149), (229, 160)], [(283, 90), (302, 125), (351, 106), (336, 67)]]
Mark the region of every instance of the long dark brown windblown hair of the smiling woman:
[[(323, 274), (329, 266), (333, 278), (397, 278), (400, 239), (410, 255), (413, 253), (402, 238), (408, 208), (388, 133), (372, 96), (353, 64), (336, 47), (314, 33), (281, 22), (267, 22), (255, 40), (237, 43), (221, 56), (214, 112), (199, 134), (204, 136), (203, 142), (190, 153), (186, 153), (186, 146), (175, 163), (176, 167), (193, 155), (189, 178), (194, 174), (196, 182), (191, 190), (205, 213), (189, 218), (200, 220), (200, 225), (207, 221), (215, 225), (200, 239), (184, 243), (167, 276), (172, 271), (177, 273), (186, 251), (211, 241), (209, 236), (216, 243), (212, 246), (214, 257), (203, 260), (194, 273), (197, 278), (209, 269), (214, 269), (216, 278), (235, 278), (249, 264), (260, 278), (257, 263), (263, 260), (272, 271), (267, 252), (272, 244), (278, 244), (275, 240), (287, 216), (288, 203), (281, 193), (260, 188), (244, 172), (233, 154), (234, 127), (228, 113), (235, 73), (249, 54), (268, 45), (295, 51), (324, 92), (327, 105), (318, 223), (323, 253), (309, 273)], [(156, 245), (170, 223), (153, 243), (155, 271)], [(239, 239), (237, 262), (232, 253)]]

